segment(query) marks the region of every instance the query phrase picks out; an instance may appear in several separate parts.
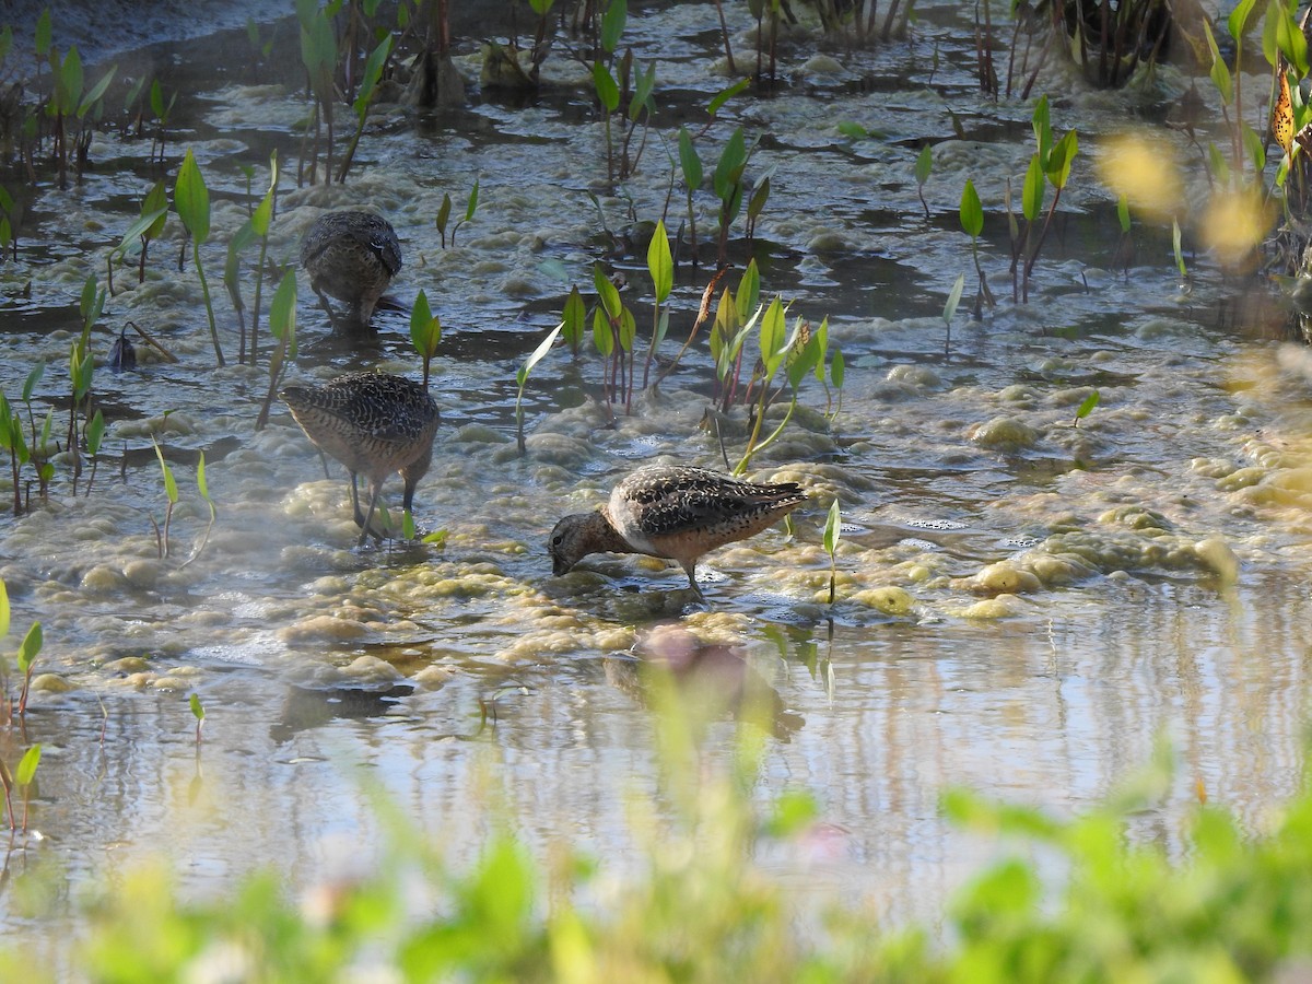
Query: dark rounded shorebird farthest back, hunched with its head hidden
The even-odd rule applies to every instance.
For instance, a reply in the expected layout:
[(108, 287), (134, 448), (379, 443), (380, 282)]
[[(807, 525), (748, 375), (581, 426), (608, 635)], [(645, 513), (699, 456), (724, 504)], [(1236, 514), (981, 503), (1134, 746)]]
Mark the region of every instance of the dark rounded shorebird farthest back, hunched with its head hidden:
[[(378, 298), (401, 269), (401, 244), (396, 230), (380, 215), (331, 211), (315, 219), (306, 232), (300, 243), (300, 268), (310, 274), (310, 286), (319, 295), (333, 329), (363, 335), (369, 332)], [(328, 297), (350, 306), (340, 325)]]

